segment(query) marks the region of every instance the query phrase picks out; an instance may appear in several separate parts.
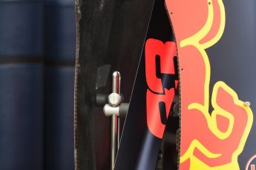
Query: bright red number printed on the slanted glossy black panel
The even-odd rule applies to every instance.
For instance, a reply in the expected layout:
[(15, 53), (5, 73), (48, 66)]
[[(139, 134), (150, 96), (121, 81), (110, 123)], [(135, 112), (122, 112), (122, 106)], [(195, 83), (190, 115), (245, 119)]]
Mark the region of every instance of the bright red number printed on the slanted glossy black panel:
[[(160, 70), (157, 70), (157, 58)], [(177, 49), (174, 42), (165, 44), (157, 39), (149, 38), (145, 43), (145, 77), (148, 84), (146, 105), (147, 124), (149, 131), (156, 137), (162, 138), (165, 124), (174, 99), (174, 86), (163, 82), (161, 75), (175, 75), (174, 58), (177, 58)]]

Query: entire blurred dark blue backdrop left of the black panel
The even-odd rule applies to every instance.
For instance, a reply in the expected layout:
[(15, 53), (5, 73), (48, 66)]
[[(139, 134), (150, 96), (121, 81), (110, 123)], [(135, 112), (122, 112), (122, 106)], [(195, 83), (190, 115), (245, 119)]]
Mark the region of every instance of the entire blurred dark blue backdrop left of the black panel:
[(0, 169), (70, 170), (73, 0), (0, 0)]

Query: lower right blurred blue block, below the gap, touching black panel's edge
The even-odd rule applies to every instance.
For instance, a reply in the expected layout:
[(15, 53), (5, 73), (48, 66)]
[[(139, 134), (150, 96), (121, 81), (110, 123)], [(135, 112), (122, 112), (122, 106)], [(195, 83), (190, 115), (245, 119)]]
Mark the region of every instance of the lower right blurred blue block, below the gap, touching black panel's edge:
[(45, 169), (74, 169), (73, 67), (45, 71)]

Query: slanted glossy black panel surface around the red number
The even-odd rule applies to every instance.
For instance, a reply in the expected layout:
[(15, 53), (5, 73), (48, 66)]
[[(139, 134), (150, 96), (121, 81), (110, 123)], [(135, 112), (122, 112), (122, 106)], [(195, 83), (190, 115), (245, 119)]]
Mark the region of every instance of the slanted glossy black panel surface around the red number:
[[(174, 41), (171, 23), (162, 0), (154, 2), (145, 40), (148, 38), (155, 38), (164, 43), (166, 41)], [(145, 49), (143, 48), (128, 115), (122, 132), (119, 152), (116, 157), (116, 170), (150, 170), (156, 169), (157, 166), (162, 140), (149, 132), (146, 122), (146, 91), (148, 86), (145, 80), (144, 51)], [(163, 86), (174, 85), (171, 84), (174, 81), (171, 76), (163, 75), (162, 79)]]

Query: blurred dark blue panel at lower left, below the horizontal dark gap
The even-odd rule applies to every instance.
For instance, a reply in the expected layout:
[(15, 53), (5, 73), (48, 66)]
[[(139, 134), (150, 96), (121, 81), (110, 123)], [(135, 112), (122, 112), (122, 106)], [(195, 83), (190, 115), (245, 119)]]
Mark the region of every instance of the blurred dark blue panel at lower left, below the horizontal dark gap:
[(42, 169), (42, 64), (0, 65), (0, 169)]

